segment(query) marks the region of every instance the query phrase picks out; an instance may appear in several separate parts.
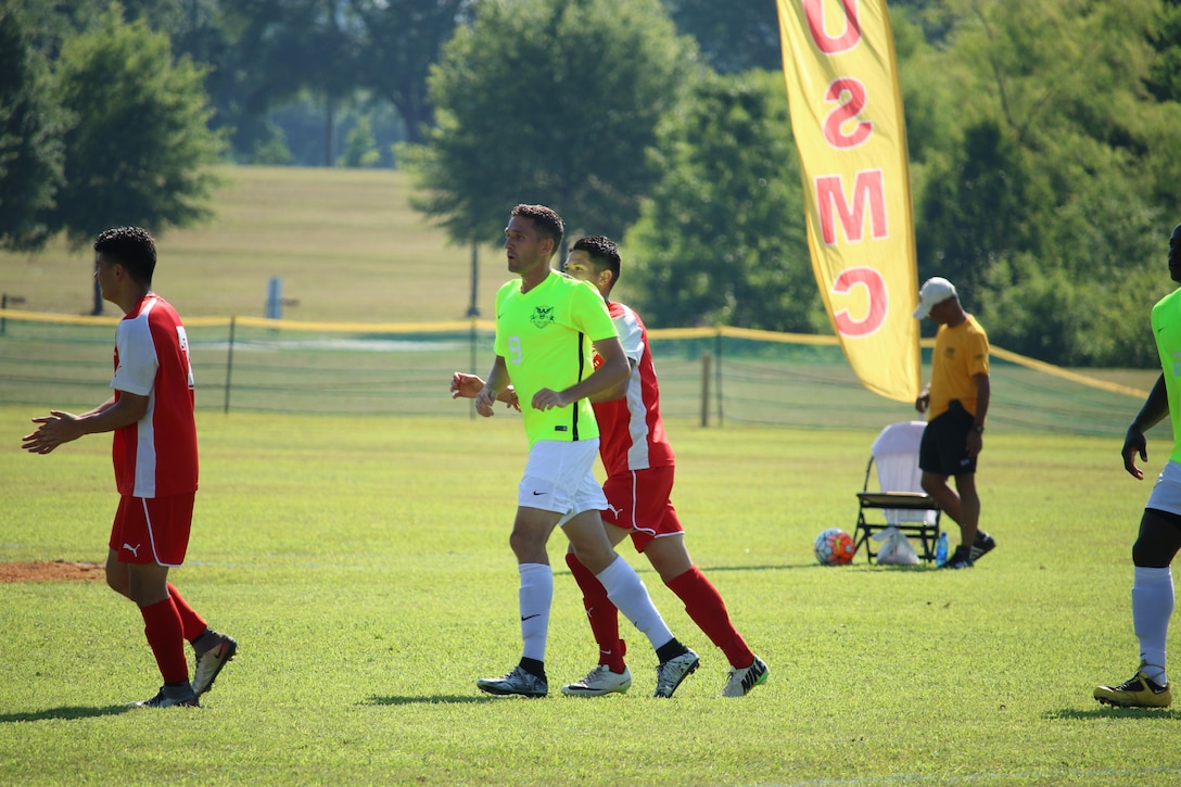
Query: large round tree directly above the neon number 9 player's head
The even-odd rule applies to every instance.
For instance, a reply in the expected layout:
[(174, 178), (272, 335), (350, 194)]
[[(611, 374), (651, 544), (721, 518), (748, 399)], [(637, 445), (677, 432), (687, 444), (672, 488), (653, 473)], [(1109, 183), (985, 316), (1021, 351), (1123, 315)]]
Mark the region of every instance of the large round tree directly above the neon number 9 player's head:
[(415, 207), (489, 241), (517, 202), (619, 238), (654, 174), (645, 150), (698, 73), (657, 0), (485, 0), (430, 77), (437, 125), (403, 145)]

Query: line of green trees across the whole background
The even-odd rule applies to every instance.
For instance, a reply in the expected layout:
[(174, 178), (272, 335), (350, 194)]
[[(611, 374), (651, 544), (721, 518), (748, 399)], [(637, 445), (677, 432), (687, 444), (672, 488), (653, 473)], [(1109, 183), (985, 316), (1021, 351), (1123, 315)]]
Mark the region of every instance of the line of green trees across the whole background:
[[(1181, 0), (889, 13), (920, 279), (1007, 349), (1154, 365)], [(781, 69), (768, 0), (0, 0), (0, 245), (185, 226), (208, 164), (298, 148), (410, 171), (457, 243), (553, 204), (654, 327), (827, 332)]]

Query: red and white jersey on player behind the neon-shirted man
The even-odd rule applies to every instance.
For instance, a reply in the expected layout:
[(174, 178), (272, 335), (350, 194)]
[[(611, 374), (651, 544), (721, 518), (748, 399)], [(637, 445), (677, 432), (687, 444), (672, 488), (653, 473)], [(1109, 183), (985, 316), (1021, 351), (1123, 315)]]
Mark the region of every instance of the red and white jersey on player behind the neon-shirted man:
[[(632, 363), (627, 394), (621, 399), (595, 402), (599, 456), (607, 475), (674, 463), (672, 445), (660, 419), (660, 385), (648, 349), (648, 331), (640, 316), (624, 304), (607, 304), (624, 352)], [(595, 357), (595, 365), (600, 359)]]

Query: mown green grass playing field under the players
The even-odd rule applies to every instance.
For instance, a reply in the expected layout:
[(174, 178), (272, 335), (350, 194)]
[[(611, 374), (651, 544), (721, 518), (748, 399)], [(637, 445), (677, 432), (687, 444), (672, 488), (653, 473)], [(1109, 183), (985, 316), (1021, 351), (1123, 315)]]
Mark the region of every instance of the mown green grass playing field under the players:
[[(99, 561), (109, 442), (25, 455), (32, 415), (0, 408), (0, 560)], [(552, 696), (524, 701), (475, 688), (520, 656), (516, 419), (202, 412), (198, 427), (196, 525), (172, 578), (239, 639), (237, 659), (200, 710), (128, 710), (158, 685), (128, 601), (102, 583), (0, 585), (0, 782), (1181, 779), (1181, 711), (1091, 698), (1135, 666), (1129, 546), (1150, 484), (1123, 473), (1110, 438), (991, 437), (979, 484), (999, 546), (971, 571), (828, 568), (811, 541), (852, 531), (873, 431), (674, 421), (687, 545), (770, 681), (718, 698), (720, 651), (625, 549), (702, 668), (653, 700), (637, 635), (629, 694), (561, 696), (595, 646), (555, 534)], [(1149, 448), (1155, 473), (1168, 444)]]

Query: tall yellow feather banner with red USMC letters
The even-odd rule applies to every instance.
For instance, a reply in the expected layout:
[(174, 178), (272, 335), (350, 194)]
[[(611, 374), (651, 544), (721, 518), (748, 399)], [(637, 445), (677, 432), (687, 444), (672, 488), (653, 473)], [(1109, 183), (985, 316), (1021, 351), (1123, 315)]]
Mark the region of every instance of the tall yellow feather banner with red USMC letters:
[(777, 0), (808, 247), (862, 384), (914, 401), (921, 359), (906, 124), (885, 0)]

